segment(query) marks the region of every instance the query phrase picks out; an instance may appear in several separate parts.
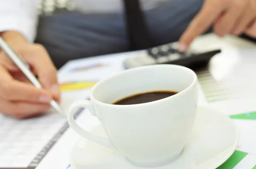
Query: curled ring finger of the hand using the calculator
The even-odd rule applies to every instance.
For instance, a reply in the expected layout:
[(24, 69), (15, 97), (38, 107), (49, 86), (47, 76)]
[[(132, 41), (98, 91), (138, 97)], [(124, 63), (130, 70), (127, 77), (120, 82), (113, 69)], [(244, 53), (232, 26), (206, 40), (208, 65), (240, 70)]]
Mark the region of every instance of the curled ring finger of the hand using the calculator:
[(248, 27), (248, 25), (253, 21), (253, 18), (256, 17), (255, 9), (252, 6), (247, 6), (243, 14), (235, 24), (232, 33), (239, 35)]

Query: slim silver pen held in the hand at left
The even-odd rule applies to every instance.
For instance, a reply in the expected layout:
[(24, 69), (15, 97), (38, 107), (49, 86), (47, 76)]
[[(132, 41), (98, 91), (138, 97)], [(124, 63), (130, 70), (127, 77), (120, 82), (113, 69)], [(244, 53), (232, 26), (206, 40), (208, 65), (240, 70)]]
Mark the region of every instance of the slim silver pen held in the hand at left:
[[(17, 52), (15, 52), (12, 47), (10, 47), (3, 38), (0, 37), (0, 48), (3, 49), (3, 51), (9, 56), (10, 59), (17, 65), (17, 67), (24, 73), (24, 75), (32, 82), (33, 85), (37, 88), (43, 88), (38, 79), (35, 77), (35, 75), (30, 71), (29, 65), (26, 63), (26, 61), (19, 55)], [(58, 103), (55, 100), (51, 100), (49, 104), (54, 108), (59, 114), (64, 115), (64, 111), (61, 109), (61, 107), (58, 105)]]

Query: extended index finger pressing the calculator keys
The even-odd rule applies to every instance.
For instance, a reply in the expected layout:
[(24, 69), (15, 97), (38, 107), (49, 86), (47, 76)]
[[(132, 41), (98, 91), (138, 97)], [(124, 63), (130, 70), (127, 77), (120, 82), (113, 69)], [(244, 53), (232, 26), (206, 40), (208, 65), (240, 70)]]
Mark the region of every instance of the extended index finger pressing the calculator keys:
[(220, 3), (212, 2), (214, 1), (206, 1), (201, 11), (199, 11), (197, 16), (189, 24), (189, 27), (182, 34), (179, 40), (179, 51), (184, 52), (192, 40), (206, 31), (223, 11), (223, 6)]

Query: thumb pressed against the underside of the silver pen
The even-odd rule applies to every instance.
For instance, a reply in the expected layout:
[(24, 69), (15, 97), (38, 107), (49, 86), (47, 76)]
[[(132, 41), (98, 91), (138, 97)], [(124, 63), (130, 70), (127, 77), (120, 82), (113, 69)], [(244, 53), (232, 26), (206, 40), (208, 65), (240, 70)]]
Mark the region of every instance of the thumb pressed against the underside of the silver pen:
[(3, 99), (42, 103), (49, 103), (52, 99), (49, 91), (16, 81), (3, 67), (0, 67), (0, 77), (0, 97)]

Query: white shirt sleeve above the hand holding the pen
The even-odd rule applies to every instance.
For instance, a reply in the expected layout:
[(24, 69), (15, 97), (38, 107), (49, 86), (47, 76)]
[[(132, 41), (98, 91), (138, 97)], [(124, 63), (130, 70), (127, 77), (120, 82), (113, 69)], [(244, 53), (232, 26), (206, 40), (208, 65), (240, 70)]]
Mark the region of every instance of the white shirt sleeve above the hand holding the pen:
[(17, 31), (29, 42), (36, 36), (38, 0), (0, 0), (0, 32)]

